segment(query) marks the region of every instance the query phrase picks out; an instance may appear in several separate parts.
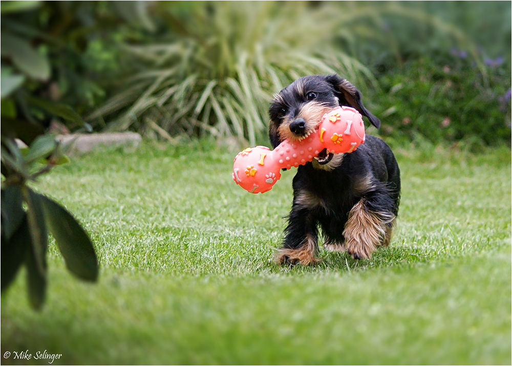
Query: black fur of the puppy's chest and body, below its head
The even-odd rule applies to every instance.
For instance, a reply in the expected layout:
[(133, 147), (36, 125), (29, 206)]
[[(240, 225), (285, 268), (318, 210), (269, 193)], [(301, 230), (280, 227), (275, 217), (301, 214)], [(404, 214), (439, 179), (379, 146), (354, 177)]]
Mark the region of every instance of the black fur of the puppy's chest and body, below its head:
[[(371, 175), (374, 188), (369, 192), (354, 189), (354, 178)], [(305, 235), (317, 235), (316, 225), (333, 242), (343, 243), (343, 231), (352, 207), (365, 198), (371, 212), (398, 214), (400, 173), (391, 149), (382, 140), (367, 136), (366, 142), (346, 154), (332, 171), (318, 170), (311, 163), (299, 166), (293, 178), (293, 193), (313, 193), (321, 201), (315, 207), (294, 204), (286, 227), (285, 248), (297, 248)]]

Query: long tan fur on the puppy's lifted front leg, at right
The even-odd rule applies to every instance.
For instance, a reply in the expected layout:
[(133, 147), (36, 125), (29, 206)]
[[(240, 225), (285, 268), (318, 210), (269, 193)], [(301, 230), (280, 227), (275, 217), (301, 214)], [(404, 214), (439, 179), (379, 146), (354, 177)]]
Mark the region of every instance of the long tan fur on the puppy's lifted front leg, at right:
[(350, 210), (343, 231), (347, 251), (355, 259), (370, 259), (377, 246), (386, 240), (386, 228), (394, 219), (391, 213), (370, 212), (361, 199)]

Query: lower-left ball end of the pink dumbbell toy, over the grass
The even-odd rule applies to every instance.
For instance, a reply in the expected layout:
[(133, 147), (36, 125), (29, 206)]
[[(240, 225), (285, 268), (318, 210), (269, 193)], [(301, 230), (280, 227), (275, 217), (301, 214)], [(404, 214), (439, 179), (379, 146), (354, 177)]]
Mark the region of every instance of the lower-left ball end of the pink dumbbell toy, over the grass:
[(246, 148), (234, 158), (233, 180), (250, 193), (264, 193), (281, 178), (265, 146)]

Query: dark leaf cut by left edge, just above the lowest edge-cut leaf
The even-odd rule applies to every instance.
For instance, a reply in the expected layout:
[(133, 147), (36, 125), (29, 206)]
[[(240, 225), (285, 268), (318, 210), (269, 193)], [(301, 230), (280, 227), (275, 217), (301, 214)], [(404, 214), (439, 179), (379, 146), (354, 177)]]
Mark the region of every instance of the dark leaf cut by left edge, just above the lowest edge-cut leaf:
[(2, 242), (9, 240), (25, 218), (22, 190), (18, 185), (2, 189)]

